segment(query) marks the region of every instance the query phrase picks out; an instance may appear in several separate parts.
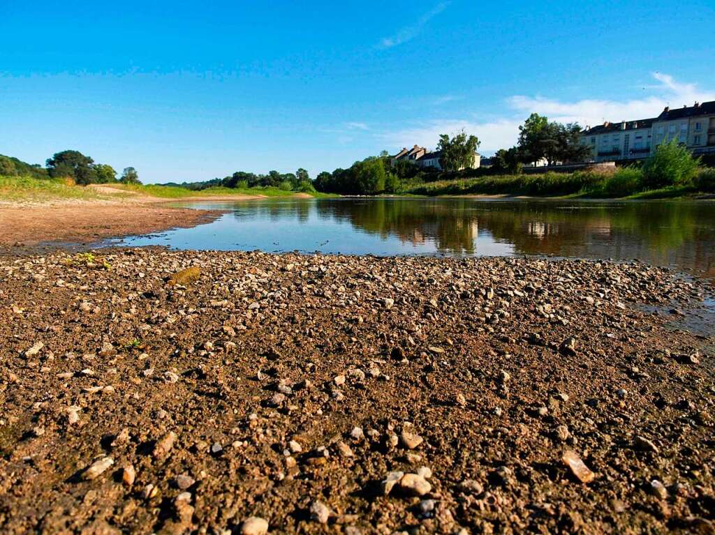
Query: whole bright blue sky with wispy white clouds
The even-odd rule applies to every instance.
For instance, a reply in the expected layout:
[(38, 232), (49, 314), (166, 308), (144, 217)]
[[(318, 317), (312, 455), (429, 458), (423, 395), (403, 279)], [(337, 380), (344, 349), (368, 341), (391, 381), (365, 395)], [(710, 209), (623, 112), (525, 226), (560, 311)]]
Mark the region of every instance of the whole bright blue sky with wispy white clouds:
[(715, 100), (711, 0), (202, 4), (0, 0), (0, 154), (315, 176), (459, 129), (490, 154), (532, 111)]

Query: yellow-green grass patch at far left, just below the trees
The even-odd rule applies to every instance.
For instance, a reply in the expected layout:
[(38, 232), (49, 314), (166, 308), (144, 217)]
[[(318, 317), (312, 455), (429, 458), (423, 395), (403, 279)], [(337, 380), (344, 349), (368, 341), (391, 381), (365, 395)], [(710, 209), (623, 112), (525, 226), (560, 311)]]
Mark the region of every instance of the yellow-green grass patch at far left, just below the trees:
[(89, 188), (69, 185), (64, 179), (0, 176), (0, 201), (49, 201), (53, 199), (102, 199)]

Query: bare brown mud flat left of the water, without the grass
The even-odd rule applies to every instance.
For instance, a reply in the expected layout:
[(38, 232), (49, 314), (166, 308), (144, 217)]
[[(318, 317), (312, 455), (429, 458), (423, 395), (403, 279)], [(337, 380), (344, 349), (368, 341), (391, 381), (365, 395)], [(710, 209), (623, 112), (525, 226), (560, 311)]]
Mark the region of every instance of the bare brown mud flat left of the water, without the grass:
[(52, 242), (94, 244), (107, 238), (195, 226), (220, 214), (121, 202), (0, 208), (0, 254)]

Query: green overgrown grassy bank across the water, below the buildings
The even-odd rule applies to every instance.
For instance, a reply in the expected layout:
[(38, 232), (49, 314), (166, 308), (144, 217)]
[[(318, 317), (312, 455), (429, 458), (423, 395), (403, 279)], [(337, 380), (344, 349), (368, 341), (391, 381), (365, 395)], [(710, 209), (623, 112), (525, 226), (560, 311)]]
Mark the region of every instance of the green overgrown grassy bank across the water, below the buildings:
[(614, 173), (573, 173), (481, 176), (407, 185), (400, 193), (411, 195), (526, 195), (583, 196), (602, 199), (666, 199), (715, 191), (715, 169), (702, 169), (686, 184), (656, 189), (644, 185), (640, 169), (622, 168)]

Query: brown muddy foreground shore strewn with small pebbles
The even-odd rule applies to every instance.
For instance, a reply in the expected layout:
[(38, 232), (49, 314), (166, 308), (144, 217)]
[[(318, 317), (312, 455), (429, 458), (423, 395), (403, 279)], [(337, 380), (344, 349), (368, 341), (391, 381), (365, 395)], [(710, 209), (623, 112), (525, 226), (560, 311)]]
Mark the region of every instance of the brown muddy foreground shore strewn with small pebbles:
[(4, 533), (713, 529), (713, 341), (638, 311), (674, 272), (97, 256), (0, 259)]

